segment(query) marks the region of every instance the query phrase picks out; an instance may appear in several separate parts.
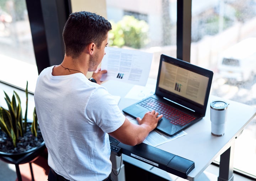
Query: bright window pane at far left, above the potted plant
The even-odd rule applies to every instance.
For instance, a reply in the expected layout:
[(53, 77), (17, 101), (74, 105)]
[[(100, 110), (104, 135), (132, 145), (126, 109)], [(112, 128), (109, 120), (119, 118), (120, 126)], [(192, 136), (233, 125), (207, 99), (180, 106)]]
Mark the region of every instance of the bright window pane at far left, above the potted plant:
[(0, 81), (33, 92), (38, 76), (26, 1), (0, 1)]

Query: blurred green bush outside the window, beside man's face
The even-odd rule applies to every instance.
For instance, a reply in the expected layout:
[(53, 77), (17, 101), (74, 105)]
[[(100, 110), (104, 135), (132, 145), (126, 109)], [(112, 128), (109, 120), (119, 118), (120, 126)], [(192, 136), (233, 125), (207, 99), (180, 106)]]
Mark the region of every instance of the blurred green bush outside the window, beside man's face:
[(110, 46), (128, 46), (135, 49), (143, 48), (149, 43), (148, 24), (133, 16), (124, 16), (117, 23), (111, 21), (112, 30), (108, 35)]

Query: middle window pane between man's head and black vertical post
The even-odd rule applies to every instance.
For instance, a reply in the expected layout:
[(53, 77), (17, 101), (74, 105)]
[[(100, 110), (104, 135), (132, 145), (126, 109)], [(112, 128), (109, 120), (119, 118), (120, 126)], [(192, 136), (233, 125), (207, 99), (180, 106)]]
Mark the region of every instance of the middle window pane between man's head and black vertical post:
[[(124, 33), (128, 37), (127, 42), (122, 45), (109, 42), (110, 45), (123, 48), (132, 47), (154, 53), (149, 77), (156, 79), (160, 55), (165, 54), (176, 57), (177, 1), (133, 0), (122, 1), (121, 3), (118, 0), (107, 0), (106, 6), (107, 19), (111, 21), (112, 25), (118, 23), (125, 24), (126, 21), (130, 21), (132, 18), (135, 18), (136, 20), (134, 21), (137, 21), (135, 23), (136, 27), (134, 27), (134, 29), (137, 29), (134, 33), (135, 36), (131, 36), (132, 31), (129, 30), (127, 34)], [(127, 19), (127, 15), (130, 16), (130, 19)], [(126, 24), (130, 27), (130, 23)], [(139, 26), (140, 24), (143, 24), (143, 26)], [(114, 31), (115, 26), (113, 26), (112, 32)], [(121, 31), (124, 32), (124, 30)], [(119, 33), (120, 31), (116, 32)], [(110, 35), (109, 39), (111, 40)], [(117, 35), (113, 39), (117, 40)], [(133, 46), (138, 39), (140, 39), (140, 45)], [(128, 43), (129, 41), (133, 44)]]

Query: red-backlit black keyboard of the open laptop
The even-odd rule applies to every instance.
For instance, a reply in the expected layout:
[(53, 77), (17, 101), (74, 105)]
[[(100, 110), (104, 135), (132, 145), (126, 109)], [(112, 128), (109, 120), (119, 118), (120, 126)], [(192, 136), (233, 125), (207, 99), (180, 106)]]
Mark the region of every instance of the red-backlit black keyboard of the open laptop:
[(190, 123), (195, 117), (168, 106), (152, 97), (138, 103), (140, 106), (147, 108), (149, 111), (155, 110), (170, 120), (170, 123), (184, 126)]

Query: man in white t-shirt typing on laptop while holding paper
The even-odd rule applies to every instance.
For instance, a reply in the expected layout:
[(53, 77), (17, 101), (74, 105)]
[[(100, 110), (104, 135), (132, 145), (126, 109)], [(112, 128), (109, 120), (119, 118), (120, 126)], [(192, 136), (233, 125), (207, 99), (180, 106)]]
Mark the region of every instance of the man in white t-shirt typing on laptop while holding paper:
[[(63, 30), (65, 56), (44, 69), (34, 101), (48, 149), (51, 180), (111, 180), (108, 134), (127, 145), (144, 141), (162, 115), (155, 111), (129, 122), (107, 90), (97, 69), (105, 55), (110, 22), (91, 12), (72, 13)], [(85, 75), (92, 74), (92, 81)], [(94, 83), (96, 82), (96, 83)]]

